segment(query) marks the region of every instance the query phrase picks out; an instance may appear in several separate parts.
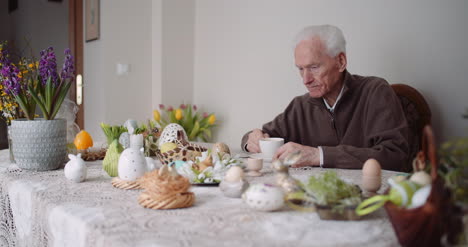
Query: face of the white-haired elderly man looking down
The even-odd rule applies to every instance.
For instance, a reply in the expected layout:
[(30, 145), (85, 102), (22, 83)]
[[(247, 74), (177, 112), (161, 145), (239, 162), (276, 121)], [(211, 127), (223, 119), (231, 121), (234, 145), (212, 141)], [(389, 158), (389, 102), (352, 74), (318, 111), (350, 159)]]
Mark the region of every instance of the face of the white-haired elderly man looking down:
[(319, 38), (301, 41), (296, 46), (294, 56), (309, 95), (335, 100), (341, 91), (341, 72), (346, 68), (346, 56), (343, 53), (336, 57), (329, 56)]

